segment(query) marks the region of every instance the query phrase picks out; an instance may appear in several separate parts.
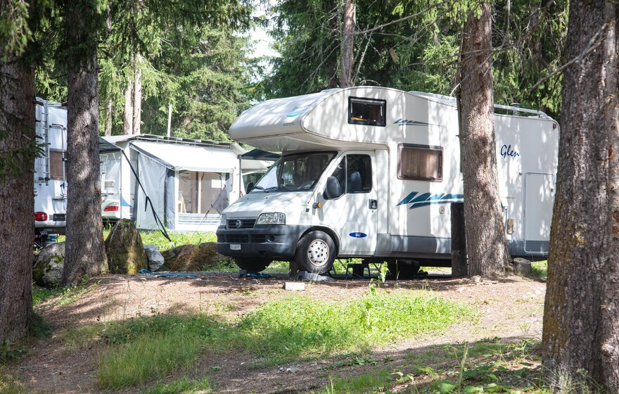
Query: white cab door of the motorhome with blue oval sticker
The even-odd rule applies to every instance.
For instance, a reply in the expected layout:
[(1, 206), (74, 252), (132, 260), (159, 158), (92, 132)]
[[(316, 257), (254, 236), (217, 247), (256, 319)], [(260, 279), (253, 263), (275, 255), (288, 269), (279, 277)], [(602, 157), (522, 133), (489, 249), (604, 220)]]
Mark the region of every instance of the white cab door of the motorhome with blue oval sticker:
[(334, 198), (321, 196), (320, 222), (338, 232), (339, 255), (374, 255), (376, 250), (378, 209), (382, 207), (376, 201), (375, 163), (374, 152), (349, 152), (328, 174), (337, 179), (338, 191)]

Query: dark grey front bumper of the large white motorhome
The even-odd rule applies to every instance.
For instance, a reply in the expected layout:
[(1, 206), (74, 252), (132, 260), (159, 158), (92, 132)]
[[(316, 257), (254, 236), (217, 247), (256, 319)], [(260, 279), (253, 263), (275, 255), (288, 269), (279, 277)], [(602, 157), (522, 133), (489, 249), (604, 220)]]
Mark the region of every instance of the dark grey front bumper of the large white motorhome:
[[(291, 260), (295, 257), (297, 243), (309, 226), (288, 224), (257, 225), (252, 229), (217, 228), (217, 252), (231, 258), (270, 258)], [(241, 250), (231, 250), (231, 244)]]

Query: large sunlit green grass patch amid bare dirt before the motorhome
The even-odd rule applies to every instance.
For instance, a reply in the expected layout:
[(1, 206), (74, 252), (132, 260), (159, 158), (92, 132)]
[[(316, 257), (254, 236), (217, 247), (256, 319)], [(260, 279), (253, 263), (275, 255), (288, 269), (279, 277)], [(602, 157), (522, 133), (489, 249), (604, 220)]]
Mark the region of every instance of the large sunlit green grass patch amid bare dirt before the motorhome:
[(118, 389), (188, 371), (203, 352), (238, 351), (255, 366), (368, 350), (447, 328), (475, 311), (431, 295), (377, 293), (340, 303), (292, 295), (226, 322), (207, 314), (156, 315), (63, 333), (74, 347), (101, 341), (101, 388)]

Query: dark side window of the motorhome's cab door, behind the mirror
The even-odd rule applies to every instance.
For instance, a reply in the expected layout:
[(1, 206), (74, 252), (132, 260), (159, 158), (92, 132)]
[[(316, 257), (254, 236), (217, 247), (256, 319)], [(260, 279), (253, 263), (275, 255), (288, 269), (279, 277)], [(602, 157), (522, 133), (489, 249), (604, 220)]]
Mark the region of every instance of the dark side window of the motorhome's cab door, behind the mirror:
[(372, 189), (371, 159), (369, 155), (346, 155), (331, 176), (340, 184), (336, 198), (344, 193), (369, 193)]

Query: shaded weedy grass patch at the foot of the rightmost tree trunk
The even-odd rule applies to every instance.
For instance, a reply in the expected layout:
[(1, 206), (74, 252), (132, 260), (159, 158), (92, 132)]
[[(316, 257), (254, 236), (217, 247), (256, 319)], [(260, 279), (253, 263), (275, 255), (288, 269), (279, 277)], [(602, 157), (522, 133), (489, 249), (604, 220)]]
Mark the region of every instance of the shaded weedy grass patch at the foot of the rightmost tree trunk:
[(540, 345), (532, 341), (443, 345), (414, 355), (395, 369), (379, 365), (359, 376), (329, 376), (317, 393), (550, 393), (542, 384)]

